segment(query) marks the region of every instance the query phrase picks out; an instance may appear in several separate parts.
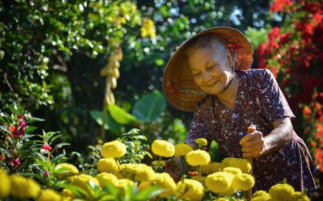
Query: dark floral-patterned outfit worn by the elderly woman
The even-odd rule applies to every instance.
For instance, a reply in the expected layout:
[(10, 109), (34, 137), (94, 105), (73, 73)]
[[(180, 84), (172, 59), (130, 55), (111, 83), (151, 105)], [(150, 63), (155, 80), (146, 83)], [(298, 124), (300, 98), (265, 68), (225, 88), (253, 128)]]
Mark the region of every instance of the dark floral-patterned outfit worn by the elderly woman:
[[(225, 157), (242, 158), (239, 141), (250, 124), (266, 136), (274, 129), (275, 120), (295, 118), (269, 70), (250, 69), (236, 73), (239, 84), (233, 111), (222, 105), (216, 96), (206, 96), (198, 104), (185, 143), (194, 144), (197, 138), (207, 139), (208, 144), (215, 140)], [(284, 178), (296, 191), (307, 188), (309, 196), (316, 190), (313, 160), (304, 141), (295, 132), (293, 136), (282, 149), (253, 159), (256, 181), (253, 192), (268, 191)]]

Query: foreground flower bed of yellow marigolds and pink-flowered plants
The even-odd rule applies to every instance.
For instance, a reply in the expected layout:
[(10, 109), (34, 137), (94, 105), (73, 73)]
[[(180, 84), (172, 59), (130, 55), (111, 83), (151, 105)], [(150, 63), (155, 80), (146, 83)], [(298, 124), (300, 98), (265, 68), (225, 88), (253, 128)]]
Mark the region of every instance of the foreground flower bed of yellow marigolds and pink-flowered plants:
[[(68, 144), (56, 144), (59, 132), (31, 134), (36, 128), (30, 123), (41, 119), (19, 105), (9, 108), (12, 114), (0, 115), (0, 198), (6, 200), (246, 200), (255, 185), (248, 160), (212, 162), (206, 139), (196, 140), (197, 150), (155, 140), (150, 153), (138, 129), (90, 146), (90, 164), (71, 164), (62, 150)], [(145, 156), (156, 160), (144, 163)], [(177, 179), (164, 171), (165, 160), (174, 165)], [(269, 192), (254, 192), (251, 200), (309, 198), (282, 181)]]

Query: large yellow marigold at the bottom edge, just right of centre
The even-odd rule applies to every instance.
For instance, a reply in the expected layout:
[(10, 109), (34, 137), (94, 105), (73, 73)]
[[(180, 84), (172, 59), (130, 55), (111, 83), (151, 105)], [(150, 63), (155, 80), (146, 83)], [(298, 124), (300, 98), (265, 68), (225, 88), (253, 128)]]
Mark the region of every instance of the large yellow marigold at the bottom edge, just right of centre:
[(176, 198), (182, 200), (197, 201), (204, 196), (203, 185), (193, 179), (184, 179), (176, 184), (177, 194)]

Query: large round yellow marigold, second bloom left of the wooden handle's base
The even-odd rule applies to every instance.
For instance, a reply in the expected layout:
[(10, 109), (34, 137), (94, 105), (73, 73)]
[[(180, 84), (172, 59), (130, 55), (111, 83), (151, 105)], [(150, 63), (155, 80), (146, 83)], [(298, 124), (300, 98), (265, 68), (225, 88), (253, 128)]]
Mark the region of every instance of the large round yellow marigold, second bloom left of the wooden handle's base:
[(222, 193), (229, 189), (234, 174), (228, 172), (215, 172), (205, 178), (205, 186), (214, 193)]

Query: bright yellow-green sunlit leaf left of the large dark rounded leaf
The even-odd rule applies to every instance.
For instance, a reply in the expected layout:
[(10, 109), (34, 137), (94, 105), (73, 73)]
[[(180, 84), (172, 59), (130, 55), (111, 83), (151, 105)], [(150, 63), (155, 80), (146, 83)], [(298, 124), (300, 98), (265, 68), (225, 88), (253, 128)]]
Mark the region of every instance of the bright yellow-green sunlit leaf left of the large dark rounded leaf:
[(109, 105), (108, 110), (109, 110), (112, 118), (120, 124), (131, 124), (131, 123), (138, 122), (136, 117), (132, 116), (131, 114), (126, 112), (124, 109), (122, 109), (118, 105)]

